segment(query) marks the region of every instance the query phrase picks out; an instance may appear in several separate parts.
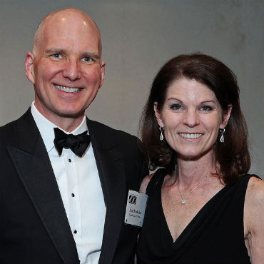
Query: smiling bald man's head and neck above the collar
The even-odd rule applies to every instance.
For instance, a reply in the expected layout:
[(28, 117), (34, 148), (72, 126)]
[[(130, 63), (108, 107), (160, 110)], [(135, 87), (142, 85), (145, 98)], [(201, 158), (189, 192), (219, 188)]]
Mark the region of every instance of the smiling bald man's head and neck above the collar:
[(57, 126), (64, 128), (66, 120), (76, 126), (103, 83), (96, 24), (78, 9), (49, 14), (36, 31), (25, 65), (36, 108)]

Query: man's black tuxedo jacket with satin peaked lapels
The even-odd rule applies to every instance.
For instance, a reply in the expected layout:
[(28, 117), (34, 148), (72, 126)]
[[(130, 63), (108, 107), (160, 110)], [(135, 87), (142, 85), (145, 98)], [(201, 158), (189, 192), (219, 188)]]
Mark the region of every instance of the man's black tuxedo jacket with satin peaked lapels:
[[(136, 137), (96, 121), (87, 123), (106, 203), (99, 263), (133, 263), (138, 228), (123, 220), (128, 189), (138, 190), (148, 173), (143, 154)], [(30, 109), (0, 128), (0, 214), (0, 263), (79, 263)]]

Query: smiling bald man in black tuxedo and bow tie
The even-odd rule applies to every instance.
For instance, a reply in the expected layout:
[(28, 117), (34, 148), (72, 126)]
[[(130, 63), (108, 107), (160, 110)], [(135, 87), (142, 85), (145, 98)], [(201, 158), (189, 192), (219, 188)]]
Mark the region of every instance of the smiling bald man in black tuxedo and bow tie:
[(128, 190), (146, 170), (137, 138), (91, 121), (105, 62), (93, 20), (45, 17), (26, 54), (35, 100), (0, 128), (0, 263), (133, 263)]

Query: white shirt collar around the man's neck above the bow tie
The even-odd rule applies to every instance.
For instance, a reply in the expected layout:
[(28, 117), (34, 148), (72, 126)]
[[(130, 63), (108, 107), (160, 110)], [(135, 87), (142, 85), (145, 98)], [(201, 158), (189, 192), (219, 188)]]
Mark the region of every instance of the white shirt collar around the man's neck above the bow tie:
[[(34, 103), (35, 101), (31, 103), (31, 113), (34, 118), (34, 121), (36, 122), (36, 126), (39, 128), (39, 132), (41, 133), (41, 137), (44, 141), (46, 150), (49, 153), (49, 151), (51, 151), (51, 149), (54, 148), (54, 128), (60, 128), (60, 127), (56, 126), (46, 117), (44, 117), (41, 113), (39, 113)], [(64, 131), (62, 128), (60, 129)], [(64, 133), (66, 134), (71, 133), (73, 135), (77, 135), (79, 133), (83, 133), (84, 131), (88, 131), (86, 116), (83, 116), (83, 120), (81, 121), (81, 124), (77, 128), (75, 128), (71, 132), (64, 131)]]

